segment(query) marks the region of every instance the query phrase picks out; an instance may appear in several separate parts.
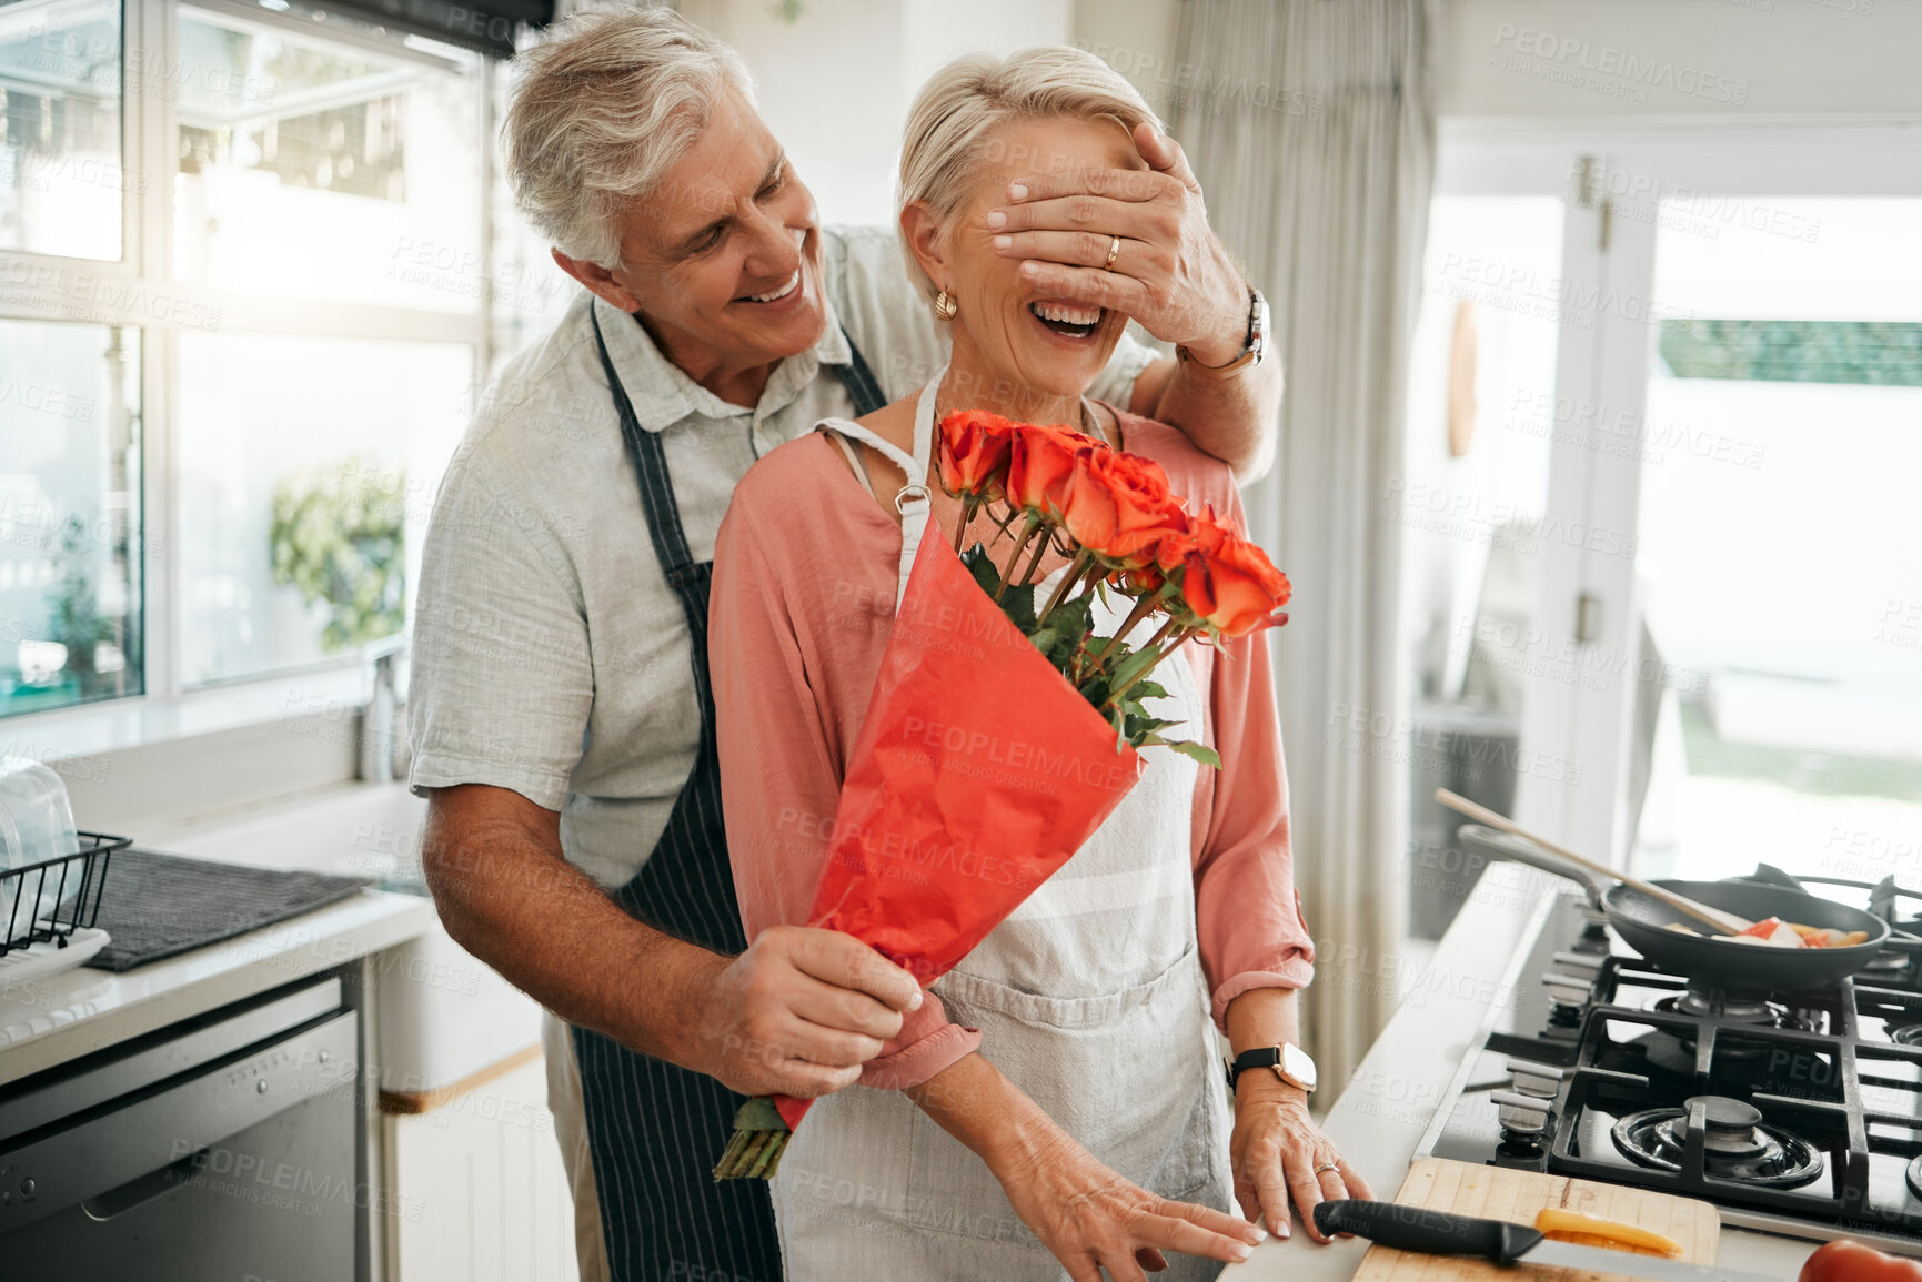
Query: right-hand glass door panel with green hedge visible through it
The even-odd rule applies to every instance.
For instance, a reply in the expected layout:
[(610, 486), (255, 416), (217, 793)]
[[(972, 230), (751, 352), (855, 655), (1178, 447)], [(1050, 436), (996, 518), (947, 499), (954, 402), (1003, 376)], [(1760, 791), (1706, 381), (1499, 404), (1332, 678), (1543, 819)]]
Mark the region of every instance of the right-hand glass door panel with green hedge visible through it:
[[(1737, 217), (1722, 210), (1741, 208)], [(1922, 873), (1922, 200), (1663, 204), (1634, 867)]]

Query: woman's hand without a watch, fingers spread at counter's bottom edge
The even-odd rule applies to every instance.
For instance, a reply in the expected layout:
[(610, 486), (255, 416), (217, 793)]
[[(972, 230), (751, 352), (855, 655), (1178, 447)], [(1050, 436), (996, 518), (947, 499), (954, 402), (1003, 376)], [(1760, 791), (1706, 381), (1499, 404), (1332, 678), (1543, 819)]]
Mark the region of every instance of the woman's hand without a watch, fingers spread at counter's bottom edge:
[(1099, 1282), (1101, 1269), (1113, 1282), (1146, 1282), (1144, 1269), (1169, 1267), (1163, 1251), (1244, 1261), (1267, 1236), (1222, 1211), (1130, 1184), (1059, 1128), (990, 1169), (1074, 1282)]

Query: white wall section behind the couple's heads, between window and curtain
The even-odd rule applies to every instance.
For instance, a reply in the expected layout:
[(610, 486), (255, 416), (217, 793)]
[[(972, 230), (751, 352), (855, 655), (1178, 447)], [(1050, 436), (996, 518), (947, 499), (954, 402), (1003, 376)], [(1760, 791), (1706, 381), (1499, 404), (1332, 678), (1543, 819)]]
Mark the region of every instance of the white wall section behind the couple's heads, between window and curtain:
[(828, 223), (894, 223), (901, 125), (928, 73), (967, 50), (1069, 38), (1069, 0), (805, 0), (794, 23), (769, 0), (680, 10), (748, 60), (761, 117)]

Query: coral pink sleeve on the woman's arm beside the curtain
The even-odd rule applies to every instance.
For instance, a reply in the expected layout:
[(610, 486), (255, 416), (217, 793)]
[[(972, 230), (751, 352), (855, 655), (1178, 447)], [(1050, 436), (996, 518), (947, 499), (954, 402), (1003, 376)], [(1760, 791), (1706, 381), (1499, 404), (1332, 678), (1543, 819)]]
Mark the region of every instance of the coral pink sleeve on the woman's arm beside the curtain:
[[(1240, 500), (1230, 515), (1245, 529)], [(1253, 988), (1305, 988), (1315, 940), (1301, 917), (1288, 844), (1288, 775), (1267, 634), (1197, 655), (1211, 669), (1207, 738), (1220, 769), (1195, 780), (1195, 926), (1213, 1015)]]

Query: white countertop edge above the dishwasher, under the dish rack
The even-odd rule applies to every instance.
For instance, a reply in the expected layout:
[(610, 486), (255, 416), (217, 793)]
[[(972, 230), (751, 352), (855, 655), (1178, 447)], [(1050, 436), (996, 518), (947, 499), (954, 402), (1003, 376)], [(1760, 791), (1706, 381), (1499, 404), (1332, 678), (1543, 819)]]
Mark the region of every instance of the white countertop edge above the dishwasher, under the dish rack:
[(432, 901), (361, 890), (248, 934), (123, 974), (79, 967), (0, 988), (0, 1084), (427, 930)]

